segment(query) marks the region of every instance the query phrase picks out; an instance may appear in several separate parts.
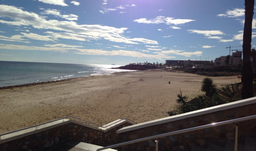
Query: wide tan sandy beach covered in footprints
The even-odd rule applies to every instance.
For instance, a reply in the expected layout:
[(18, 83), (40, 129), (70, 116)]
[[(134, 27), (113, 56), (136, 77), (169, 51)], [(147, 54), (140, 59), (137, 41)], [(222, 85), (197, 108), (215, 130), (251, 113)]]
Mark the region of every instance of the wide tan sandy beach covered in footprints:
[[(205, 77), (155, 69), (2, 89), (0, 134), (68, 115), (99, 125), (124, 117), (136, 123), (167, 117), (180, 90), (190, 99), (204, 94)], [(241, 81), (212, 79), (218, 87)]]

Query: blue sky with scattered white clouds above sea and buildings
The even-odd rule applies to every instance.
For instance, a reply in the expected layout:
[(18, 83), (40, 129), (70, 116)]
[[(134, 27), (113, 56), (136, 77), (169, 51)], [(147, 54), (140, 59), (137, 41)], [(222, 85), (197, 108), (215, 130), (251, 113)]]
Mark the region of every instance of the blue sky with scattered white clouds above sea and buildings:
[(242, 50), (244, 8), (244, 0), (0, 0), (0, 61), (214, 61)]

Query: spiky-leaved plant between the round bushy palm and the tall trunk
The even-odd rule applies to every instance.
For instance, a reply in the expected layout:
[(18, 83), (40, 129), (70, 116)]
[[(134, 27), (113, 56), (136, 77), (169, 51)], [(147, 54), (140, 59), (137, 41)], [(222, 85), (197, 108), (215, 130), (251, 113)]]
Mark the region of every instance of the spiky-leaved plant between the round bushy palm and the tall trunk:
[(226, 86), (222, 86), (219, 90), (218, 90), (218, 94), (219, 96), (225, 98), (225, 99), (230, 99), (232, 98), (236, 92), (238, 91), (238, 84), (231, 84), (231, 86), (229, 86), (228, 84)]

